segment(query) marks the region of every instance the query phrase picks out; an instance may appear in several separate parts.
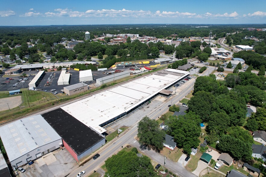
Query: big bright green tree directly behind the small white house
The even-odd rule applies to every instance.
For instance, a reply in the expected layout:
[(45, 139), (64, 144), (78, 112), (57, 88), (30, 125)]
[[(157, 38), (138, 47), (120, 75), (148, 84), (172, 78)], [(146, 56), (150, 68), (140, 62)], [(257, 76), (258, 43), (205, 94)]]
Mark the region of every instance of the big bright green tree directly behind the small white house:
[[(193, 98), (193, 97), (192, 97)], [(170, 116), (165, 125), (168, 126), (167, 134), (174, 137), (174, 141), (183, 148), (186, 154), (191, 153), (192, 147), (198, 147), (201, 133), (200, 117), (195, 113), (188, 112), (184, 116)]]

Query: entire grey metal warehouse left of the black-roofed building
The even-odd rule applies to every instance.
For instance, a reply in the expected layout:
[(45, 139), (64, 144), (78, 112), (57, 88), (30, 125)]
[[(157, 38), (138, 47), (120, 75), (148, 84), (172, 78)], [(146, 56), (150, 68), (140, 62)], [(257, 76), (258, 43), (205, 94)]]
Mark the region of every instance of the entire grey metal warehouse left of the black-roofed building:
[(0, 136), (12, 168), (59, 148), (62, 138), (41, 115), (30, 116), (0, 127)]

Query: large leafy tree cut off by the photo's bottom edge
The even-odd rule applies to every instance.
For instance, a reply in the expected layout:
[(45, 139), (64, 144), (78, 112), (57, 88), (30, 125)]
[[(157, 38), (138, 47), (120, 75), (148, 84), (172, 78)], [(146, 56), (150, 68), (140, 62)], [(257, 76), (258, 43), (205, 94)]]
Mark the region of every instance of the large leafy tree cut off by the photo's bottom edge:
[(147, 156), (138, 157), (135, 152), (120, 151), (106, 161), (106, 177), (156, 177), (154, 168)]

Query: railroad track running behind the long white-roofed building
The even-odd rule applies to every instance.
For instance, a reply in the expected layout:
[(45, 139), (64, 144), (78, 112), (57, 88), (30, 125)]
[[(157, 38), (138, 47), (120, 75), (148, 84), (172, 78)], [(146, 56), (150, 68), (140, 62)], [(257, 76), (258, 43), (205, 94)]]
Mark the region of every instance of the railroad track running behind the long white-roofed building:
[[(165, 68), (162, 68), (162, 69), (160, 69), (160, 70), (163, 70), (163, 69), (165, 69)], [(155, 73), (159, 72), (160, 70), (156, 71)], [(73, 100), (65, 101), (65, 102), (60, 103), (60, 104), (58, 104), (58, 105), (56, 105), (56, 106), (52, 106), (52, 107), (48, 107), (48, 108), (44, 108), (44, 109), (42, 109), (42, 110), (39, 110), (39, 111), (36, 111), (36, 112), (33, 112), (33, 113), (29, 113), (29, 114), (27, 114), (27, 115), (25, 115), (25, 116), (21, 116), (21, 117), (18, 117), (18, 118), (12, 119), (12, 120), (8, 120), (8, 121), (6, 121), (6, 122), (0, 123), (0, 126), (5, 125), (5, 124), (7, 124), (7, 123), (14, 122), (14, 121), (16, 121), (16, 120), (23, 119), (23, 118), (25, 118), (25, 117), (33, 116), (33, 115), (36, 115), (36, 114), (47, 113), (47, 112), (49, 112), (49, 111), (51, 111), (51, 110), (55, 110), (55, 109), (57, 109), (57, 108), (59, 108), (59, 107), (62, 107), (62, 106), (65, 106), (65, 105), (68, 105), (68, 104), (74, 103), (74, 102), (76, 102), (76, 101), (80, 101), (80, 100), (82, 100), (82, 99), (84, 99), (84, 98), (89, 98), (89, 97), (91, 97), (92, 95), (95, 95), (95, 94), (97, 94), (97, 93), (104, 92), (104, 91), (106, 91), (107, 89), (115, 88), (115, 87), (117, 87), (117, 86), (119, 86), (119, 85), (123, 85), (123, 84), (125, 84), (125, 83), (127, 83), (127, 82), (131, 82), (132, 80), (135, 80), (135, 79), (139, 79), (139, 77), (138, 77), (138, 78), (134, 78), (134, 79), (129, 79), (128, 81), (125, 81), (125, 82), (122, 82), (122, 83), (119, 83), (119, 84), (116, 84), (116, 85), (113, 85), (113, 86), (107, 87), (107, 88), (102, 89), (102, 90), (98, 90), (98, 91), (92, 92), (92, 93), (90, 93), (90, 94), (88, 94), (88, 95), (80, 96), (80, 97), (75, 98), (75, 99), (73, 99)]]

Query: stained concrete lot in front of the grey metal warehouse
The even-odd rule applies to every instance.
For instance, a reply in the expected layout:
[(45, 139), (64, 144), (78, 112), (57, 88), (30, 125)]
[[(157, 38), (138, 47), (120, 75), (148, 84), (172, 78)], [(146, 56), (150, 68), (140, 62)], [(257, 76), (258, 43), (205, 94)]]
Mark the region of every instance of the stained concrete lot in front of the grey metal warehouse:
[(55, 150), (34, 161), (32, 165), (22, 168), (26, 172), (21, 173), (22, 177), (61, 177), (68, 175), (78, 167), (77, 162), (65, 150)]

